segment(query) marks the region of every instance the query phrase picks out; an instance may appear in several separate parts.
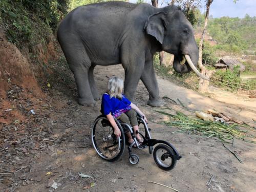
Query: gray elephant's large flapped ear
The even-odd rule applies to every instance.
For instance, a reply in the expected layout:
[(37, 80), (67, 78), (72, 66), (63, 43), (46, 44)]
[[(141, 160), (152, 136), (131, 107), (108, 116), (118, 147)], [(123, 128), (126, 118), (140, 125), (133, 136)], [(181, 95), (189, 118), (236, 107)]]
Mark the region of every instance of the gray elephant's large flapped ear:
[(146, 33), (155, 37), (160, 42), (160, 44), (163, 44), (163, 38), (166, 30), (164, 17), (165, 13), (163, 11), (154, 13), (148, 17), (144, 26)]

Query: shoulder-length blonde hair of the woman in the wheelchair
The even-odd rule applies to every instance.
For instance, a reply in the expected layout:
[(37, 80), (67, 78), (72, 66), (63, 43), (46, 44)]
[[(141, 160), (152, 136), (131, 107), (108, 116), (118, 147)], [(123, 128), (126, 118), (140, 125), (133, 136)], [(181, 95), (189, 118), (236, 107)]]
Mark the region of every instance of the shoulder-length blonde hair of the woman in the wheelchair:
[(106, 92), (109, 93), (110, 98), (123, 98), (122, 96), (123, 90), (123, 80), (118, 77), (111, 77), (108, 82), (108, 87), (106, 88)]

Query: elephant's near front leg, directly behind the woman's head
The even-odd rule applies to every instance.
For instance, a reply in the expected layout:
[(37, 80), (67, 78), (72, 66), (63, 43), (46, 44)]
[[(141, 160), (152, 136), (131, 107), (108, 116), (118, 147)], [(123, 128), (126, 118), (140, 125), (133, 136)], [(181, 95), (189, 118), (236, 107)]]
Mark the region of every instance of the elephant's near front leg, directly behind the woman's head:
[(127, 63), (122, 63), (125, 70), (124, 95), (131, 101), (133, 101), (138, 82), (143, 72), (144, 60), (143, 57), (140, 57), (133, 58)]

